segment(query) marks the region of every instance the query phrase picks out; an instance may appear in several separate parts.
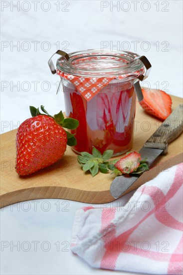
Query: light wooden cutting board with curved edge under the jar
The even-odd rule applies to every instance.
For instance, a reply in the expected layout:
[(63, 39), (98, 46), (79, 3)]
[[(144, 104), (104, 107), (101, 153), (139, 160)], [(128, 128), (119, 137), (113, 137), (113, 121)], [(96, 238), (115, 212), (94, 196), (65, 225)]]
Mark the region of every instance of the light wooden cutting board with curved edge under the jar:
[[(177, 96), (172, 96), (172, 99), (174, 110), (183, 99)], [(139, 103), (135, 121), (132, 150), (138, 151), (162, 122), (144, 112)], [(14, 169), (15, 135), (16, 130), (0, 135), (0, 207), (40, 198), (62, 198), (87, 203), (107, 203), (115, 200), (109, 190), (114, 175), (98, 173), (92, 177), (90, 173), (85, 173), (77, 162), (77, 155), (70, 147), (67, 147), (63, 158), (50, 167), (26, 177), (18, 176)], [(170, 143), (168, 153), (159, 157), (157, 166), (136, 180), (128, 192), (152, 179), (160, 171), (182, 162), (182, 152), (183, 134)]]

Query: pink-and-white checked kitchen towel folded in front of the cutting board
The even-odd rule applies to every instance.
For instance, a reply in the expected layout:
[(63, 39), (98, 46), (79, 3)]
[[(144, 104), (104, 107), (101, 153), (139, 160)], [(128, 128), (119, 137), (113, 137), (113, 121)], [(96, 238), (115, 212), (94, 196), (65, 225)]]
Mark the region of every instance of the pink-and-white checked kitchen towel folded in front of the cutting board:
[(183, 273), (183, 163), (161, 172), (118, 207), (86, 206), (71, 249), (98, 268)]

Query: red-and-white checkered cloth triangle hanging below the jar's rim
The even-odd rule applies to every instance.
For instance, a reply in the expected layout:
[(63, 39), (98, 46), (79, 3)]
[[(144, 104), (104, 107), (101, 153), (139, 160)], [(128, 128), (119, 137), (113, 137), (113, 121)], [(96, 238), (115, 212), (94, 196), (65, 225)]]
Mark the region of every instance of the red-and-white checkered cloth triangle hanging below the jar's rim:
[(115, 79), (124, 79), (130, 75), (139, 76), (144, 73), (144, 68), (137, 70), (133, 73), (128, 73), (121, 76), (109, 76), (109, 77), (83, 77), (83, 76), (76, 76), (72, 74), (65, 73), (57, 69), (57, 74), (71, 81), (77, 90), (81, 93), (81, 95), (86, 98), (87, 101), (93, 98), (95, 94), (97, 94), (102, 88), (107, 86), (111, 80)]

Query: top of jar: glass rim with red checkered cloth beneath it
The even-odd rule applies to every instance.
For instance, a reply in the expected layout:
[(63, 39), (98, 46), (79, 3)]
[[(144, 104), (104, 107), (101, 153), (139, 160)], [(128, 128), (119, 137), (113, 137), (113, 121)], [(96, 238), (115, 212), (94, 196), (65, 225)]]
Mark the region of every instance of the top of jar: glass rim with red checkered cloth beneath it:
[(144, 73), (133, 52), (86, 50), (69, 54), (69, 61), (57, 60), (57, 74), (71, 81), (81, 95), (91, 100), (113, 79), (137, 78)]

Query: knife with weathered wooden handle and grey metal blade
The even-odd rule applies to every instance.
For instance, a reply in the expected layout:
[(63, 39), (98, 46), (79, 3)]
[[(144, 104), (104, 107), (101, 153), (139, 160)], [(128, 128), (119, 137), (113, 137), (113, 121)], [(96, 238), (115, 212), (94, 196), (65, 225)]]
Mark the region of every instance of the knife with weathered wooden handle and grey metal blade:
[[(183, 131), (183, 104), (167, 117), (161, 126), (150, 136), (140, 149), (142, 159), (148, 158), (149, 168), (160, 154), (168, 151), (168, 143), (175, 140)], [(145, 172), (146, 173), (146, 172)], [(142, 174), (123, 174), (116, 176), (110, 186), (111, 195), (114, 198), (120, 197)]]

